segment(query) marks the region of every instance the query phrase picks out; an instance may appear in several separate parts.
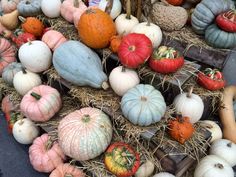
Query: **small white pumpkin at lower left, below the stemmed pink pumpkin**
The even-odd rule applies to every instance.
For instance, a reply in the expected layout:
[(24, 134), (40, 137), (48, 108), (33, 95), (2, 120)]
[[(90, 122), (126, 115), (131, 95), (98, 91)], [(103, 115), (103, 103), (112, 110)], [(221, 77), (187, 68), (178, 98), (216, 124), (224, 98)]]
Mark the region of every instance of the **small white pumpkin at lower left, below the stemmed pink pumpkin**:
[(12, 129), (15, 140), (21, 144), (31, 144), (39, 135), (38, 127), (28, 118), (15, 122)]

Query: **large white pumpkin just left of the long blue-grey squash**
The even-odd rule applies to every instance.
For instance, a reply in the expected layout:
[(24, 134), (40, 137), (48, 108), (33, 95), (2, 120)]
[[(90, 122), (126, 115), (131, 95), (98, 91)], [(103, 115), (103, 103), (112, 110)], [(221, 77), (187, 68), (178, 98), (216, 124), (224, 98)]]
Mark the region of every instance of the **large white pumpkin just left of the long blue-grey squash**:
[(52, 63), (52, 52), (42, 41), (23, 44), (18, 53), (22, 65), (29, 71), (38, 73), (47, 70)]

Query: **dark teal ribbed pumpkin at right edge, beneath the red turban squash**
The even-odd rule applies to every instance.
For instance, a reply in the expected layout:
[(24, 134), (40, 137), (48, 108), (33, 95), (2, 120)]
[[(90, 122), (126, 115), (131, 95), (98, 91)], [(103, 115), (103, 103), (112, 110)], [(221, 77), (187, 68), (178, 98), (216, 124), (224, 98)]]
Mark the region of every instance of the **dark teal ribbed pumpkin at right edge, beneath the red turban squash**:
[(221, 30), (216, 24), (210, 25), (205, 32), (206, 42), (215, 48), (236, 47), (236, 33)]

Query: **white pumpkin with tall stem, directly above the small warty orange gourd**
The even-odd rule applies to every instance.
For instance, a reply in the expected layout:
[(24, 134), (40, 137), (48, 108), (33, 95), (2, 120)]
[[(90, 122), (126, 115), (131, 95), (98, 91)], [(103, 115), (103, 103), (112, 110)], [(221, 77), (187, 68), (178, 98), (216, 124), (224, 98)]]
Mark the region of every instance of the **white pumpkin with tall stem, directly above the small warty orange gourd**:
[(193, 87), (189, 89), (188, 93), (177, 95), (173, 104), (177, 112), (184, 117), (189, 117), (191, 123), (195, 123), (200, 120), (203, 114), (204, 103), (201, 97), (192, 93), (192, 91)]

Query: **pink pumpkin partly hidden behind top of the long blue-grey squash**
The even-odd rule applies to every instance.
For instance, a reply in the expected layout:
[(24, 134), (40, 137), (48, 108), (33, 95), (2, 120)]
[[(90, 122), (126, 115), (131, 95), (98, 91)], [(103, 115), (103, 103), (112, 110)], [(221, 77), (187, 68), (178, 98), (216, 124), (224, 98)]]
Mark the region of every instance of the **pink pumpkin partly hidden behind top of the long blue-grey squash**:
[(49, 30), (44, 33), (42, 41), (45, 42), (52, 51), (54, 51), (59, 45), (66, 42), (67, 39), (58, 31)]

